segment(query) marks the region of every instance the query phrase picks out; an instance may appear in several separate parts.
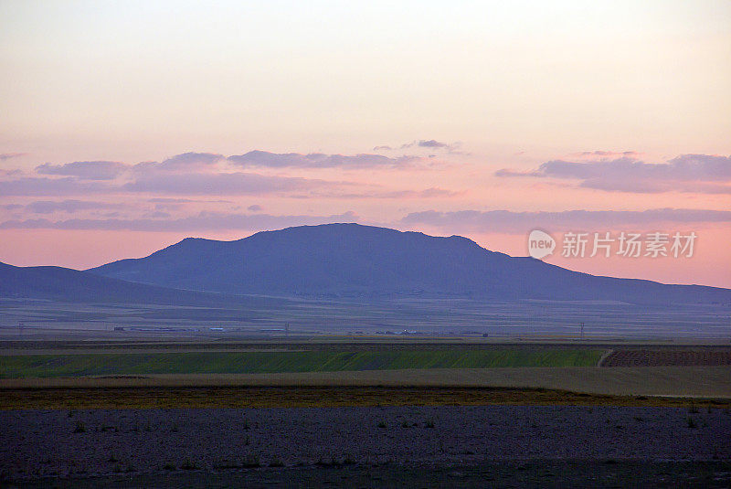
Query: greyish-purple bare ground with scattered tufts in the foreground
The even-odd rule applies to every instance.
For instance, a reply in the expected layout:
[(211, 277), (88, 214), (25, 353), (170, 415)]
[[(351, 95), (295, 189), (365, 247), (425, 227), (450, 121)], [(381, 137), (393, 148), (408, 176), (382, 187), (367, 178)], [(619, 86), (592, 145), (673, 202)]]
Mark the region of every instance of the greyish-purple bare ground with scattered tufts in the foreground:
[[(507, 470), (516, 463), (652, 462), (657, 469), (668, 462), (675, 467), (704, 462), (728, 467), (731, 462), (727, 409), (6, 410), (0, 411), (0, 427), (2, 476), (16, 484), (70, 477), (79, 485), (100, 476), (109, 476), (109, 484), (115, 477), (163, 475), (193, 481), (221, 473), (277, 479), (278, 473), (292, 471), (300, 471), (296, 477), (320, 477), (335, 469), (365, 477), (389, 466), (402, 467), (399, 476), (423, 467), (414, 472), (417, 477), (441, 469), (448, 471), (444, 476), (480, 466)], [(731, 484), (731, 478), (724, 483), (723, 473), (714, 477)]]

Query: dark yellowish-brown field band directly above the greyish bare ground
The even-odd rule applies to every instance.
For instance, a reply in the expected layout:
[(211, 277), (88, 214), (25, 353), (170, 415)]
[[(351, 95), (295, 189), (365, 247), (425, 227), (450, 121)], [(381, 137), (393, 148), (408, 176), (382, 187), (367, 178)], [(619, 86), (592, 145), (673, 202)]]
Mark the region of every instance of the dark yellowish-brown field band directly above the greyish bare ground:
[(609, 396), (546, 388), (17, 388), (0, 392), (0, 409), (486, 405), (731, 407), (730, 399)]

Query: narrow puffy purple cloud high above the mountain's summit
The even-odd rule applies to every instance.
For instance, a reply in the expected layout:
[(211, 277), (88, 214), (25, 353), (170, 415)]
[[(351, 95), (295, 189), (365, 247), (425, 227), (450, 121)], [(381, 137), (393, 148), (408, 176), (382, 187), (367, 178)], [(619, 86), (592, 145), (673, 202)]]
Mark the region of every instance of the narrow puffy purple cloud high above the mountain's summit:
[(264, 166), (270, 168), (376, 168), (403, 166), (416, 161), (415, 156), (389, 158), (381, 154), (300, 154), (269, 153), (267, 151), (249, 151), (247, 154), (228, 156), (228, 161), (240, 166)]

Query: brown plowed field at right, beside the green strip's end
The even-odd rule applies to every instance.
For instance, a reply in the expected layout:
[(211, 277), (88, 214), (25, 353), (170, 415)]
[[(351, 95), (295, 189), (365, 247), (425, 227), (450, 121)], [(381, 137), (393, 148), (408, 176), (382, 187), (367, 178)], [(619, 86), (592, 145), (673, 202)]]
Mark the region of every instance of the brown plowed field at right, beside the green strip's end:
[(690, 367), (724, 365), (731, 365), (731, 348), (722, 350), (616, 350), (601, 362), (601, 367)]

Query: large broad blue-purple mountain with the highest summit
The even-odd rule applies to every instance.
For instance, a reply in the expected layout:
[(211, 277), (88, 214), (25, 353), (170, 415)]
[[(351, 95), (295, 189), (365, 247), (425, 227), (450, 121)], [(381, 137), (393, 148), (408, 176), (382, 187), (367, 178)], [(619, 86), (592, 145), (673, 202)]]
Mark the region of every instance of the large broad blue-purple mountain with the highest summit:
[(358, 224), (263, 231), (235, 241), (188, 238), (90, 272), (179, 289), (284, 296), (731, 303), (727, 289), (598, 277), (485, 250), (460, 236)]

